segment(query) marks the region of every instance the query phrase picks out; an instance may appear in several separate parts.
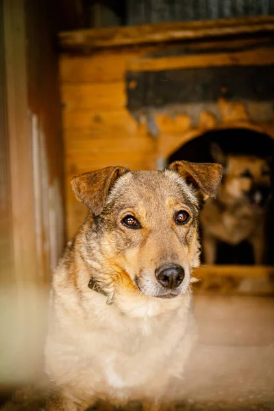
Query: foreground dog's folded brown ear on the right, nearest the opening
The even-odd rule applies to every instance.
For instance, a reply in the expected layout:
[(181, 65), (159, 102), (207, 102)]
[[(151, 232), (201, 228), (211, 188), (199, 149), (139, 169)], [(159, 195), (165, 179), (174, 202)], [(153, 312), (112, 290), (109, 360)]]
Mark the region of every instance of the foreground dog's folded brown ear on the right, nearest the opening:
[(175, 161), (168, 169), (176, 171), (187, 184), (201, 191), (204, 200), (208, 197), (216, 197), (223, 174), (221, 164)]

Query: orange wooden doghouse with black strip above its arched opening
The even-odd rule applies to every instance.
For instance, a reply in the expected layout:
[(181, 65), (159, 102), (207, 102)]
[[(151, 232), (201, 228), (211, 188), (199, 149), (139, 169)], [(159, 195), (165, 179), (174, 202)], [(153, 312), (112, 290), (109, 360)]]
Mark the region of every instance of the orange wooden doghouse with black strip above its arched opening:
[(273, 29), (273, 18), (259, 17), (60, 34), (69, 236), (86, 214), (71, 191), (74, 175), (110, 164), (162, 169), (179, 147), (210, 130), (274, 138)]

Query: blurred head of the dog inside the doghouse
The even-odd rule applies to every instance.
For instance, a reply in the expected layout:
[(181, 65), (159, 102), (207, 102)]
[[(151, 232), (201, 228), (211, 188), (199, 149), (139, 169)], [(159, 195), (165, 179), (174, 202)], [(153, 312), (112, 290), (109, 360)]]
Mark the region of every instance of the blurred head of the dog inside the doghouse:
[(256, 155), (225, 155), (216, 144), (212, 145), (212, 156), (224, 167), (220, 197), (262, 210), (271, 194), (269, 161)]

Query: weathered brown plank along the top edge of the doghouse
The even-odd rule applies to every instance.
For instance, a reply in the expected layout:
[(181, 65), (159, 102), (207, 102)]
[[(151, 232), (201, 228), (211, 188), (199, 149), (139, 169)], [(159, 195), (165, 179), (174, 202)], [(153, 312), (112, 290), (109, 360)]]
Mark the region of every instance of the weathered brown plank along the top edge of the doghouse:
[(197, 38), (256, 35), (274, 31), (274, 16), (229, 18), (187, 23), (161, 23), (135, 27), (114, 27), (110, 29), (83, 29), (59, 34), (63, 50), (98, 49), (140, 45), (155, 42), (171, 42)]

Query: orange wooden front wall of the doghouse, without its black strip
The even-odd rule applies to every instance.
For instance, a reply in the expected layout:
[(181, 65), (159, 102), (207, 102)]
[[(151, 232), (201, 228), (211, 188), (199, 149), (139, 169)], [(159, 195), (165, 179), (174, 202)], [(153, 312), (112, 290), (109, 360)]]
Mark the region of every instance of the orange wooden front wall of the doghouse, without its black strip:
[[(68, 39), (75, 46), (81, 36), (71, 32), (68, 36), (64, 34), (63, 41)], [(95, 32), (88, 31), (83, 32), (83, 38), (94, 44), (98, 40)], [(269, 45), (260, 44), (260, 40), (256, 45), (257, 40), (249, 38), (112, 47), (107, 36), (102, 38), (108, 43), (105, 47), (91, 48), (86, 55), (74, 51), (60, 57), (69, 237), (75, 234), (86, 214), (85, 207), (75, 200), (71, 191), (74, 175), (111, 164), (155, 169), (164, 165), (166, 158), (185, 142), (209, 129), (246, 127), (274, 136), (273, 108), (268, 101), (235, 101), (223, 97), (186, 104), (181, 110), (169, 107), (152, 110), (157, 136), (152, 135), (147, 112), (139, 110), (130, 114), (126, 108), (126, 87), (136, 87), (134, 80), (126, 82), (126, 73), (273, 65), (274, 53)], [(116, 38), (119, 40), (117, 33)], [(185, 45), (186, 52), (174, 55), (169, 51), (178, 45)]]

